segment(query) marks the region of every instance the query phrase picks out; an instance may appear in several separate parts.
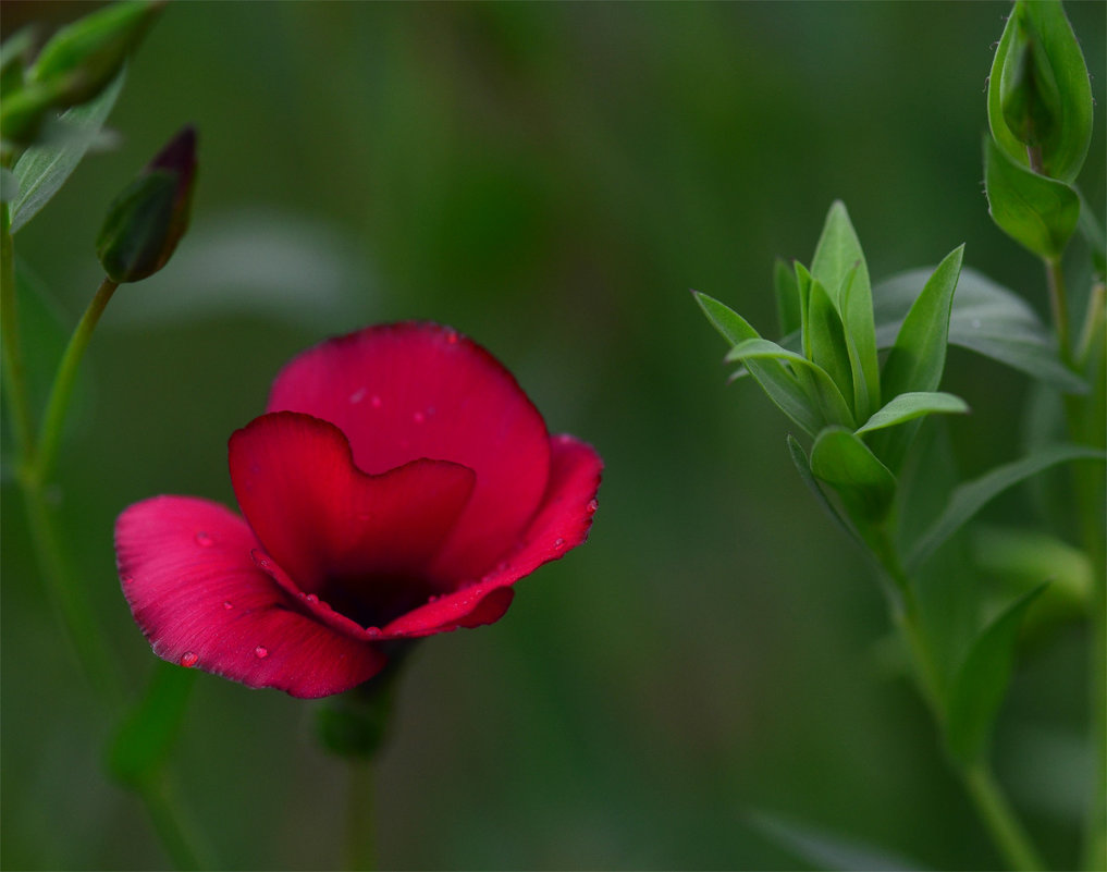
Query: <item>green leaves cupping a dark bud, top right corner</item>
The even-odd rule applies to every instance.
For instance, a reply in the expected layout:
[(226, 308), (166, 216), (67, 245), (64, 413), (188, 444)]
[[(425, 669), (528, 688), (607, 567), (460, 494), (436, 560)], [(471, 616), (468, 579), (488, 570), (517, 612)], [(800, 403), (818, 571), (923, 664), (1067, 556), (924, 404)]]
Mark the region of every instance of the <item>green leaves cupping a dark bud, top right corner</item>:
[(1092, 142), (1092, 87), (1059, 0), (1015, 3), (992, 63), (987, 118), (997, 149), (1015, 164), (1028, 166), (1033, 148), (1046, 176), (1079, 174)]

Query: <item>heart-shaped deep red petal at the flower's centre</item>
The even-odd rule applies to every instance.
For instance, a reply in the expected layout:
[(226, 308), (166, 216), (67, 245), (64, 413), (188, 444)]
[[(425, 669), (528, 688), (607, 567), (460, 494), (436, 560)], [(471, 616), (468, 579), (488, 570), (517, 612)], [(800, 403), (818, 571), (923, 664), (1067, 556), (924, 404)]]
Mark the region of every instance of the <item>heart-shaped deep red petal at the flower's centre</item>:
[(422, 459), (366, 475), (338, 427), (297, 412), (255, 418), (231, 435), (229, 455), (242, 515), (300, 590), (393, 609), (369, 623), (434, 592), (427, 569), (468, 502), (473, 470)]

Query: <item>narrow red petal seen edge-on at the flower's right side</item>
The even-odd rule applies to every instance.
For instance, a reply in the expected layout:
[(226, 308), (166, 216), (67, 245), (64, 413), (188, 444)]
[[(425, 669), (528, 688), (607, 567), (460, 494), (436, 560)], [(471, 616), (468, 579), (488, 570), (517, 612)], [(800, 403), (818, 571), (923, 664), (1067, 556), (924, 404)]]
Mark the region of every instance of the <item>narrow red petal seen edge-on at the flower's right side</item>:
[(511, 604), (507, 585), (584, 541), (603, 461), (592, 446), (572, 436), (555, 436), (550, 443), (550, 484), (523, 543), (478, 583), (397, 617), (382, 637), (423, 636), (498, 621)]

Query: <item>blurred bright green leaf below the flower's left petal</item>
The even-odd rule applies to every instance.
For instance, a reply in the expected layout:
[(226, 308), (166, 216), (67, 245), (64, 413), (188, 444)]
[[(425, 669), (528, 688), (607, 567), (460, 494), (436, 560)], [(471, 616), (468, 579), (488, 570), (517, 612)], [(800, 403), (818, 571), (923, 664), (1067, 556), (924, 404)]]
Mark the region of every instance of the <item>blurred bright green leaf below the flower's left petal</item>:
[(112, 740), (108, 767), (126, 785), (154, 775), (173, 750), (197, 673), (158, 661), (142, 700)]

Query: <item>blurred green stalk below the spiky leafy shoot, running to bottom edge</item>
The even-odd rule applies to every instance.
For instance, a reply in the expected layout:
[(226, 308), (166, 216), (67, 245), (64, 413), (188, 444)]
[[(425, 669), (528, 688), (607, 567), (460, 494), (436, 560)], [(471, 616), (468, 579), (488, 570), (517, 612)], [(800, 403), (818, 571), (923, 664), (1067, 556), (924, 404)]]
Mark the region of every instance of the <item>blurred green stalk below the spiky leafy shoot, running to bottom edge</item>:
[[(893, 608), (893, 619), (897, 627), (907, 643), (908, 655), (914, 667), (919, 693), (922, 695), (934, 724), (943, 729), (942, 692), (925, 636), (919, 626), (919, 605), (907, 573), (903, 571), (897, 549), (892, 542), (887, 525), (871, 537), (866, 538), (870, 548), (901, 593), (902, 601)], [(976, 813), (992, 837), (995, 847), (1001, 851), (1012, 869), (1018, 872), (1043, 870), (1041, 861), (1030, 837), (1026, 834), (1003, 789), (992, 776), (985, 764), (966, 767), (951, 759), (958, 768), (965, 785), (969, 797), (976, 807)]]

